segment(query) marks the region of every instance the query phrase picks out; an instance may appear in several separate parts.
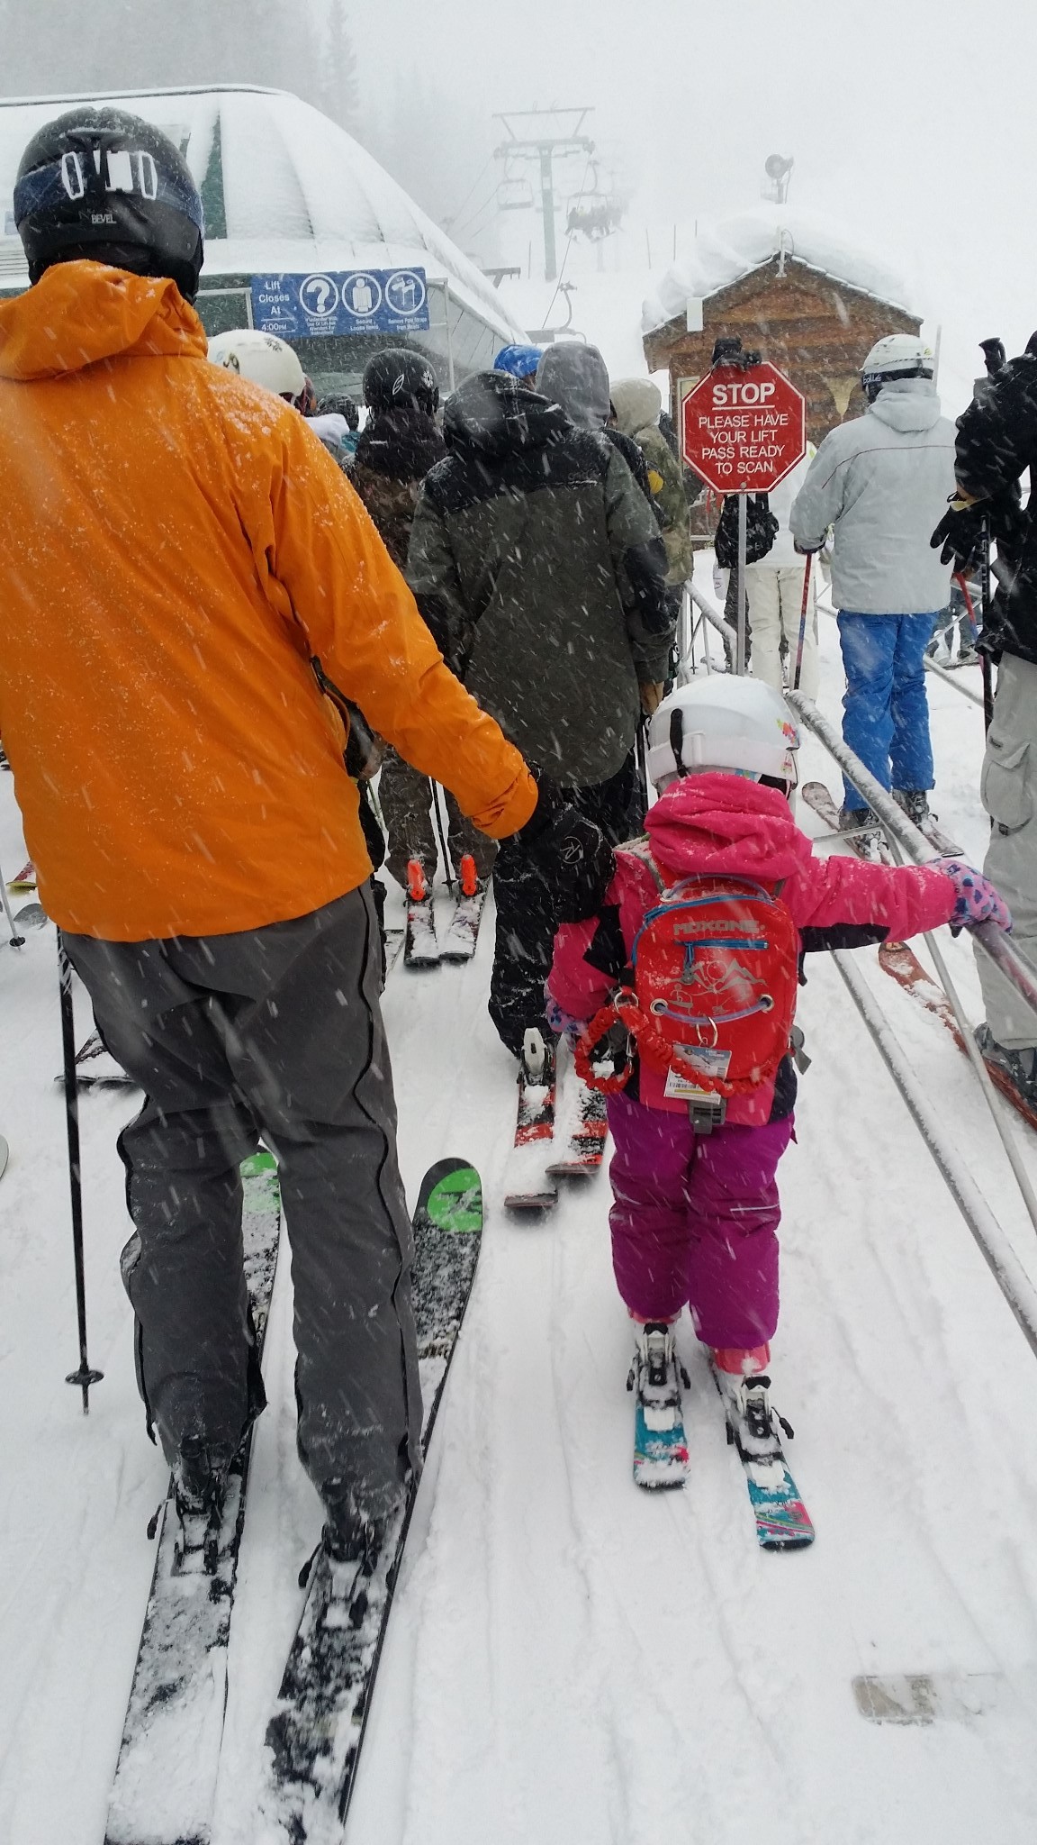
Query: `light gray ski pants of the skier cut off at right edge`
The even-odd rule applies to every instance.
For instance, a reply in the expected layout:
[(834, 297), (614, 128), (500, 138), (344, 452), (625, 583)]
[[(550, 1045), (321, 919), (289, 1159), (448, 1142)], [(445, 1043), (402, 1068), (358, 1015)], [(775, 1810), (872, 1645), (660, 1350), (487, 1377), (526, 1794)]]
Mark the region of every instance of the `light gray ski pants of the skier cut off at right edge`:
[[(1037, 666), (1002, 655), (980, 797), (991, 815), (983, 875), (1011, 910), (1011, 939), (1037, 965)], [(1037, 1018), (982, 948), (987, 1024), (1006, 1050), (1037, 1044)]]

